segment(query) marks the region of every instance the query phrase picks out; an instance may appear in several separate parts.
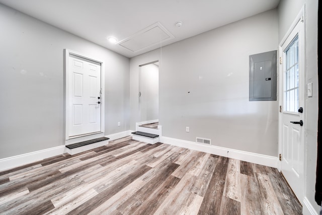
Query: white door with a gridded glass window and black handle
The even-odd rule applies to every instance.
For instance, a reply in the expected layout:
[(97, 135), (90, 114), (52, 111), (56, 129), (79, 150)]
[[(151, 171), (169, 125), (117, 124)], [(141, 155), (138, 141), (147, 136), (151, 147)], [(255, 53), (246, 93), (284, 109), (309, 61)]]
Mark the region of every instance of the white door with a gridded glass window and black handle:
[(281, 172), (298, 200), (304, 176), (304, 23), (299, 19), (280, 46)]

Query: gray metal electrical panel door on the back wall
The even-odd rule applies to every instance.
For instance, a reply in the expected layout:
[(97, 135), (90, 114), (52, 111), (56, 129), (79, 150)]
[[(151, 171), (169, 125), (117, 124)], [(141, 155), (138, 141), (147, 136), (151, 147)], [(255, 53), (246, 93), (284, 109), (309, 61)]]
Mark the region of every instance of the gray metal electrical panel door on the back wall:
[(250, 101), (276, 101), (277, 51), (250, 55)]

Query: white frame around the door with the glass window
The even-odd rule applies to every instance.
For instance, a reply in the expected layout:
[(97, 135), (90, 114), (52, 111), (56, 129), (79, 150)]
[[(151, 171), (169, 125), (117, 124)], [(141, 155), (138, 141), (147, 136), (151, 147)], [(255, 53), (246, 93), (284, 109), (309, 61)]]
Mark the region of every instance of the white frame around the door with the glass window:
[[(303, 114), (303, 121), (304, 123), (306, 122), (306, 108), (305, 108), (305, 103), (306, 103), (306, 99), (305, 99), (305, 84), (306, 84), (306, 71), (305, 71), (305, 4), (303, 5), (303, 7), (301, 8), (301, 10), (299, 11), (298, 15), (296, 16), (295, 20), (293, 21), (292, 25), (290, 26), (290, 28), (288, 29), (288, 31), (286, 32), (285, 36), (283, 37), (283, 39), (281, 40), (279, 46), (278, 46), (278, 52), (279, 52), (279, 57), (283, 57), (283, 49), (282, 49), (282, 46), (284, 45), (284, 43), (286, 42), (286, 40), (288, 39), (288, 37), (291, 35), (292, 31), (295, 29), (296, 25), (299, 23), (299, 22), (303, 22), (303, 34), (301, 35), (302, 38), (300, 40), (303, 40), (304, 44), (303, 44), (303, 53), (304, 53), (304, 56), (299, 58), (299, 60), (301, 60), (301, 67), (302, 67), (302, 71), (304, 73), (303, 77), (304, 77), (304, 80), (301, 80), (302, 82), (304, 82), (303, 84), (303, 88), (302, 89), (304, 91), (304, 95), (303, 95), (303, 109), (304, 109), (304, 114)], [(279, 58), (281, 60), (281, 58)], [(280, 62), (280, 60), (278, 62)], [(284, 59), (282, 59), (282, 61), (284, 62)], [(278, 73), (278, 101), (279, 101), (279, 107), (283, 108), (283, 77), (284, 77), (284, 63), (279, 63), (278, 64), (278, 68), (279, 68), (279, 73)], [(279, 117), (278, 117), (278, 151), (279, 151), (279, 155), (282, 154), (282, 141), (283, 141), (283, 133), (281, 132), (282, 130), (282, 125), (283, 125), (283, 121), (282, 121), (282, 112), (283, 110), (279, 110)], [(302, 170), (301, 172), (303, 173), (303, 184), (301, 185), (303, 187), (303, 193), (302, 193), (302, 196), (305, 197), (305, 193), (306, 193), (306, 186), (304, 186), (306, 184), (306, 178), (305, 178), (305, 158), (306, 158), (306, 154), (305, 154), (305, 149), (306, 149), (306, 144), (305, 144), (305, 127), (303, 127), (304, 129), (304, 132), (303, 132), (303, 136), (301, 137), (303, 139), (303, 164), (302, 164)], [(283, 156), (283, 155), (282, 155)], [(278, 170), (279, 172), (281, 172), (281, 163), (282, 161), (279, 161), (278, 162)], [(300, 203), (303, 205), (303, 199), (298, 199), (300, 201)]]

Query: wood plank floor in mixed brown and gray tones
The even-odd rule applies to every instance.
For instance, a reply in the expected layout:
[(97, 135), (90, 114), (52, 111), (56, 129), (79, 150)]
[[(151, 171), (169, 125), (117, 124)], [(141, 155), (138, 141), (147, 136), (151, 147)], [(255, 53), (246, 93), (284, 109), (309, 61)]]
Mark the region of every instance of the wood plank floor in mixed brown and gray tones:
[(0, 172), (0, 214), (301, 214), (269, 168), (130, 137)]

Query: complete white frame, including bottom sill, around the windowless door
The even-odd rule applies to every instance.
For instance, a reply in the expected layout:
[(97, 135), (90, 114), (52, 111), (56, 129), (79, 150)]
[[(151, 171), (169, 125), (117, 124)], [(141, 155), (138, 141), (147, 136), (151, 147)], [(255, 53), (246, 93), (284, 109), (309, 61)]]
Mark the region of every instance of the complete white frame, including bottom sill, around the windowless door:
[[(102, 94), (101, 94), (101, 131), (96, 132), (96, 133), (91, 133), (91, 134), (83, 134), (83, 135), (78, 135), (78, 136), (73, 136), (73, 137), (69, 137), (69, 114), (70, 114), (70, 110), (69, 110), (69, 54), (78, 56), (78, 57), (82, 57), (85, 59), (89, 59), (92, 61), (96, 61), (98, 63), (101, 63), (101, 89), (102, 89)], [(104, 62), (102, 60), (99, 60), (97, 58), (82, 54), (82, 53), (78, 53), (76, 51), (70, 50), (70, 49), (64, 49), (64, 75), (65, 75), (65, 79), (64, 79), (64, 91), (65, 91), (65, 99), (64, 99), (64, 131), (65, 131), (65, 141), (67, 142), (67, 140), (69, 139), (75, 139), (78, 137), (86, 137), (86, 136), (91, 136), (93, 134), (102, 134), (102, 136), (104, 136), (104, 132), (105, 132), (105, 123), (104, 123), (104, 118), (105, 118), (105, 74), (104, 74)], [(101, 135), (100, 135), (101, 136)]]

